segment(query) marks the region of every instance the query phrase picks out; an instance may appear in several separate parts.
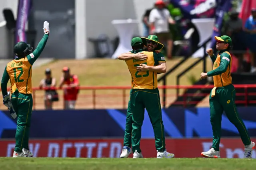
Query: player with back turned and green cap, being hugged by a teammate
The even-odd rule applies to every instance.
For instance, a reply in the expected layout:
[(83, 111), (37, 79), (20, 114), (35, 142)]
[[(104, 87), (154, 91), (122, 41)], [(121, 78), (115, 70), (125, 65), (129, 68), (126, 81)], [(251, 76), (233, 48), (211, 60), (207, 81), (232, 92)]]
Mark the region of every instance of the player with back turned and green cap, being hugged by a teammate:
[[(153, 38), (154, 37), (152, 36), (152, 40), (156, 41)], [(133, 38), (133, 50), (127, 54), (143, 52), (148, 56), (148, 58), (145, 60), (126, 60), (126, 64), (128, 65), (128, 69), (132, 75), (132, 89), (130, 91), (128, 114), (129, 111), (131, 111), (132, 151), (134, 152), (133, 158), (143, 157), (140, 150), (140, 138), (145, 108), (148, 111), (148, 115), (154, 129), (157, 158), (172, 158), (174, 157), (174, 154), (166, 152), (165, 149), (164, 125), (162, 123), (162, 111), (156, 80), (157, 73), (166, 72), (166, 62), (164, 57), (159, 57), (157, 53), (143, 51), (143, 47), (144, 44), (141, 38)], [(126, 119), (126, 121), (127, 120), (129, 119)], [(126, 139), (124, 139), (124, 144), (126, 142), (125, 140)]]

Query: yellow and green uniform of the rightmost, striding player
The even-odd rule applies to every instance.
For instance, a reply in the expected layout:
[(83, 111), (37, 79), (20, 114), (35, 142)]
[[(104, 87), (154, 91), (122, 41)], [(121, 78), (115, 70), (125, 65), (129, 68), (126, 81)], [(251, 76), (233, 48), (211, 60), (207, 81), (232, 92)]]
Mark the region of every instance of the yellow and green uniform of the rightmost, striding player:
[(225, 111), (229, 121), (235, 125), (244, 145), (249, 145), (251, 140), (244, 122), (240, 118), (235, 104), (236, 91), (232, 85), (230, 69), (232, 57), (226, 50), (218, 52), (211, 57), (214, 62), (213, 70), (207, 75), (213, 76), (214, 88), (210, 93), (210, 122), (212, 124), (213, 142), (212, 148), (219, 151), (221, 137), (221, 119)]

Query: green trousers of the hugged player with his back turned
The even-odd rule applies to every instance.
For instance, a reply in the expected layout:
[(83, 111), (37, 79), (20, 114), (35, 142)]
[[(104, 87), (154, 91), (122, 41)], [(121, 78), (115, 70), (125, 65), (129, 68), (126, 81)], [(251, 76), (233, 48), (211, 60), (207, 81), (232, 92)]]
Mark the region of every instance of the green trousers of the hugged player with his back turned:
[(132, 151), (141, 152), (141, 127), (146, 108), (154, 130), (156, 150), (163, 152), (165, 150), (164, 125), (158, 89), (132, 89), (130, 107), (132, 110)]

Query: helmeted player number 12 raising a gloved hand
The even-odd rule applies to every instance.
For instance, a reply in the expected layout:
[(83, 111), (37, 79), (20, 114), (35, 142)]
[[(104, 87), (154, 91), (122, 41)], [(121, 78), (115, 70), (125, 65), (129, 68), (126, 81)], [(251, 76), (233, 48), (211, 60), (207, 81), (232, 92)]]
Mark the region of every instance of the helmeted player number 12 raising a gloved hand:
[[(44, 36), (32, 52), (32, 47), (25, 42), (18, 42), (14, 46), (14, 53), (18, 57), (7, 64), (2, 76), (1, 88), (4, 105), (13, 106), (17, 115), (16, 145), (13, 157), (32, 157), (28, 147), (30, 120), (32, 115), (32, 65), (42, 53), (48, 40), (50, 28), (44, 22)], [(10, 95), (7, 93), (7, 83), (10, 79)]]

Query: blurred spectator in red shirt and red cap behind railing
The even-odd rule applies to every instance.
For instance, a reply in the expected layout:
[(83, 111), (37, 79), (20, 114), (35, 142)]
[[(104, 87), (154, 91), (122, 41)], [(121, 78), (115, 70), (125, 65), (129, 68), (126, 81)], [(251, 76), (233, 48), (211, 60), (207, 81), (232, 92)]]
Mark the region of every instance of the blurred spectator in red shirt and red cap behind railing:
[(75, 109), (76, 99), (79, 92), (79, 81), (76, 75), (70, 74), (68, 67), (63, 68), (63, 77), (60, 80), (60, 88), (64, 87), (64, 105), (65, 109)]

